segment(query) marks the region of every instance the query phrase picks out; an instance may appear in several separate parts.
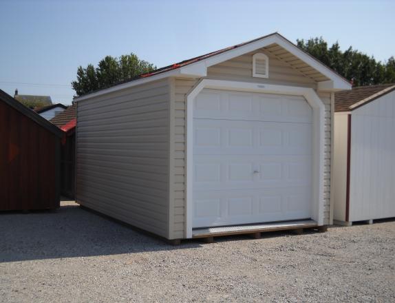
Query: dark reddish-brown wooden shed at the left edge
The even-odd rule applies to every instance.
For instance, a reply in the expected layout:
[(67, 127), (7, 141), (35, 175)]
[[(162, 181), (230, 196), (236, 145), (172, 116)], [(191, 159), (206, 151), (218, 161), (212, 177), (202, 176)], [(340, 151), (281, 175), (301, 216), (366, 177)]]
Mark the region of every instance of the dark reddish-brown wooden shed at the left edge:
[(62, 136), (0, 90), (0, 211), (59, 207)]

